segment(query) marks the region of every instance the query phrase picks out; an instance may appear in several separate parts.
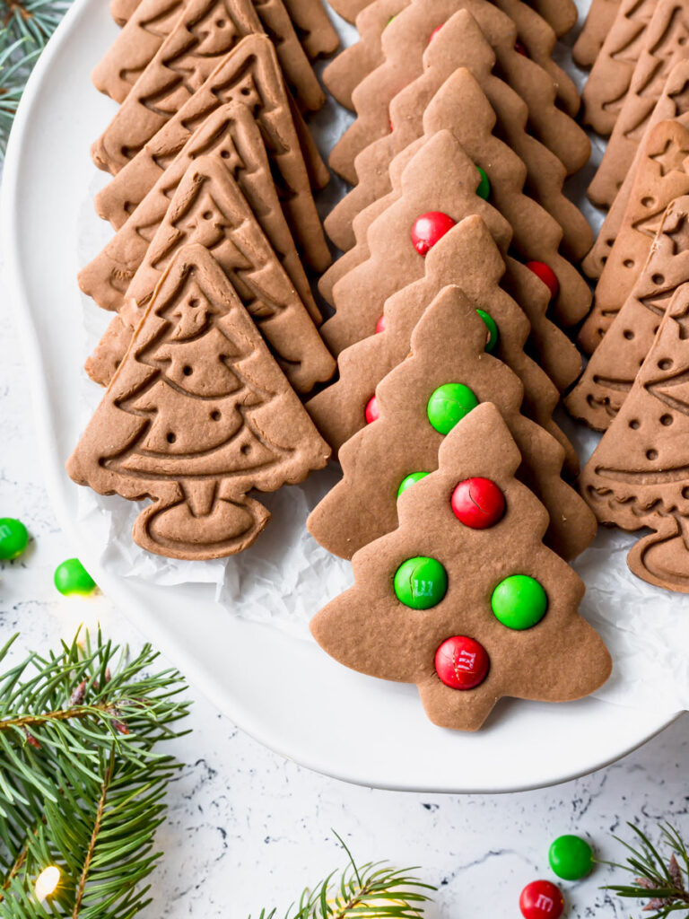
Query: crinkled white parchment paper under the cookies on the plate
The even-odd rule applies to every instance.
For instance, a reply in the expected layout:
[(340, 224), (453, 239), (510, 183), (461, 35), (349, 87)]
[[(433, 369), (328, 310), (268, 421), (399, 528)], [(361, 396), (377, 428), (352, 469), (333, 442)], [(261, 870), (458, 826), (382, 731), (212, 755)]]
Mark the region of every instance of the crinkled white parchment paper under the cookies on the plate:
[[(577, 0), (581, 26), (589, 0)], [(343, 45), (356, 40), (356, 31), (333, 14)], [(576, 38), (577, 29), (567, 37)], [(558, 48), (559, 63), (582, 85), (585, 74), (573, 66), (569, 48)], [(322, 65), (319, 65), (322, 67)], [(314, 119), (311, 128), (325, 155), (339, 138), (352, 116), (330, 100)], [(604, 143), (592, 137), (592, 163), (570, 179), (568, 194), (582, 208), (595, 231), (603, 215), (585, 199), (584, 191), (600, 161)], [(93, 196), (102, 179), (94, 177), (82, 201), (84, 232), (79, 240), (80, 264), (85, 264), (111, 231), (93, 216)], [(324, 216), (346, 191), (336, 177), (321, 196)], [(85, 315), (84, 354), (90, 353), (111, 318), (83, 297)], [(84, 375), (82, 386), (84, 424), (95, 409), (102, 391)], [(574, 425), (564, 413), (559, 422), (577, 444), (582, 463), (593, 452), (598, 436), (582, 425)], [(102, 562), (108, 571), (123, 577), (140, 577), (149, 583), (214, 584), (218, 602), (228, 616), (242, 616), (269, 622), (278, 629), (312, 641), (310, 618), (333, 596), (353, 583), (351, 565), (322, 549), (309, 535), (305, 522), (311, 509), (340, 477), (339, 467), (313, 473), (298, 486), (282, 488), (276, 494), (258, 494), (270, 510), (272, 520), (252, 549), (216, 562), (168, 561), (141, 550), (131, 539), (134, 518), (143, 505), (119, 496), (101, 497), (89, 489), (80, 495), (80, 516), (107, 516), (109, 539)], [(689, 596), (671, 594), (634, 577), (626, 556), (638, 535), (619, 530), (601, 530), (593, 546), (575, 562), (587, 593), (582, 614), (600, 631), (610, 649), (615, 670), (596, 695), (620, 705), (663, 710), (689, 708)]]

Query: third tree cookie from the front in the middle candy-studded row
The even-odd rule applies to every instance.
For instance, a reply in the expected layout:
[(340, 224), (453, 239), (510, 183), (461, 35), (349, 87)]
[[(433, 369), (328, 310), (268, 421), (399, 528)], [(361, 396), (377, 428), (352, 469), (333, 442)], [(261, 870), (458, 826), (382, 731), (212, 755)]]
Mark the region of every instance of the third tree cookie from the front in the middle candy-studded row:
[[(339, 380), (307, 403), (307, 411), (333, 450), (366, 425), (366, 407), (376, 387), (409, 354), (412, 331), (426, 306), (450, 284), (459, 286), (486, 323), (486, 349), (499, 357), (524, 387), (525, 414), (547, 428), (575, 459), (552, 412), (559, 393), (537, 364), (525, 354), (529, 323), (517, 303), (500, 287), (504, 262), (480, 217), (467, 217), (431, 249), (425, 275), (385, 303), (378, 332), (345, 348), (338, 358)], [(568, 338), (549, 323), (548, 348), (562, 365), (578, 366)], [(576, 371), (574, 371), (576, 372)]]

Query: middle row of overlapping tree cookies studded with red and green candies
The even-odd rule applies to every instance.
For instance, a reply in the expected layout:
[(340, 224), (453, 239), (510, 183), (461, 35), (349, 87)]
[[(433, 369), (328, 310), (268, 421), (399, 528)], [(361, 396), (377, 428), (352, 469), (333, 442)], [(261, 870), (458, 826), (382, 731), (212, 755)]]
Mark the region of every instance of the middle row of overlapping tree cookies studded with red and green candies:
[(596, 522), (552, 416), (591, 305), (592, 233), (562, 191), (590, 144), (552, 57), (576, 10), (335, 8), (360, 34), (323, 74), (356, 114), (330, 157), (354, 187), (325, 221), (344, 255), (319, 284), (338, 379), (306, 407), (344, 477), (308, 527), (356, 584), (311, 630), (474, 730), (503, 696), (579, 698), (610, 672), (567, 563)]

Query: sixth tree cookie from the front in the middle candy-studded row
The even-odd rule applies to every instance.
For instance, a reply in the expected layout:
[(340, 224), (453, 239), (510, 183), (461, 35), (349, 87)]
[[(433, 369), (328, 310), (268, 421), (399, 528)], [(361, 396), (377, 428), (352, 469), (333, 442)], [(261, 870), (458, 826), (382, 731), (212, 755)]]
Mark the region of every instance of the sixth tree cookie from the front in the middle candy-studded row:
[[(392, 159), (424, 133), (424, 113), (427, 107), (436, 95), (452, 92), (446, 86), (446, 81), (454, 82), (457, 70), (467, 67), (485, 94), (482, 102), (473, 103), (469, 98), (466, 99), (469, 105), (475, 104), (483, 114), (480, 127), (490, 134), (491, 119), (497, 119), (496, 133), (519, 156), (526, 168), (528, 191), (525, 193), (536, 199), (559, 222), (565, 234), (563, 251), (574, 259), (582, 258), (588, 252), (593, 234), (583, 214), (562, 194), (562, 184), (566, 177), (564, 167), (547, 147), (527, 132), (528, 109), (514, 90), (492, 74), (494, 64), (495, 54), (476, 19), (468, 10), (458, 10), (435, 34), (434, 40), (424, 51), (424, 73), (392, 99), (390, 120), (395, 130), (369, 144), (356, 157), (356, 186), (335, 206), (324, 224), (326, 232), (338, 248), (345, 251), (354, 245), (352, 222), (356, 214), (390, 191), (389, 170)], [(476, 91), (472, 96), (476, 96)], [(492, 107), (494, 114), (486, 113), (487, 105)], [(456, 131), (457, 140), (473, 156), (469, 150), (471, 138), (468, 135), (472, 131), (476, 135), (473, 129), (474, 110), (471, 118), (460, 118), (458, 113), (461, 111), (463, 107), (457, 108), (454, 113), (452, 128)], [(477, 142), (491, 142), (493, 149), (496, 144), (496, 138), (489, 141), (487, 136), (475, 136), (475, 139)], [(474, 159), (483, 168), (486, 168), (487, 163), (492, 163), (490, 157), (483, 157), (483, 163), (480, 163), (480, 158)], [(524, 167), (516, 165), (515, 160), (513, 155), (513, 174), (517, 171), (523, 173)], [(494, 169), (491, 170), (491, 173), (494, 172)], [(520, 177), (519, 190), (525, 182), (525, 177)], [(489, 174), (489, 179), (492, 187), (496, 176)]]

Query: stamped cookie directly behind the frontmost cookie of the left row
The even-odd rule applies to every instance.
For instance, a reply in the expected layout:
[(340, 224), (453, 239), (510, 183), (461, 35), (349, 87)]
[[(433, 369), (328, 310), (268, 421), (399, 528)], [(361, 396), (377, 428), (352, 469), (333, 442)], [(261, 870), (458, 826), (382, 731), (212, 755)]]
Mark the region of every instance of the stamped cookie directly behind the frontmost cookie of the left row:
[(191, 243), (208, 249), (232, 280), (296, 390), (311, 391), (315, 383), (333, 376), (333, 357), (240, 188), (221, 165), (220, 153), (199, 156), (179, 183), (131, 280), (114, 328), (106, 332), (89, 360), (87, 369), (95, 380), (107, 382), (124, 357), (120, 323), (129, 325), (133, 333), (170, 259)]

